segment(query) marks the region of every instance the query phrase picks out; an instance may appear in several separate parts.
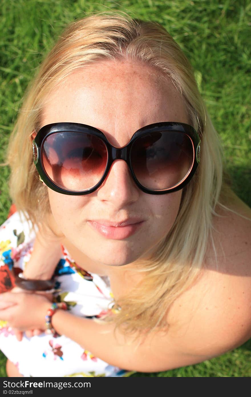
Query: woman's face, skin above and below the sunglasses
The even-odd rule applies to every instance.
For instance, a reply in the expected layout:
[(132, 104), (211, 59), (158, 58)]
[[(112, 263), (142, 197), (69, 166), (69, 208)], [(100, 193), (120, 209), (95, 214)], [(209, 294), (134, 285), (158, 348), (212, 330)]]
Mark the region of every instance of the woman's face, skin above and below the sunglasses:
[[(162, 121), (189, 123), (172, 82), (142, 64), (102, 61), (75, 71), (50, 94), (41, 126), (91, 125), (122, 147), (138, 129)], [(61, 233), (88, 261), (105, 267), (148, 256), (171, 229), (182, 192), (144, 193), (125, 161), (115, 160), (95, 192), (68, 196), (48, 188), (48, 194)]]

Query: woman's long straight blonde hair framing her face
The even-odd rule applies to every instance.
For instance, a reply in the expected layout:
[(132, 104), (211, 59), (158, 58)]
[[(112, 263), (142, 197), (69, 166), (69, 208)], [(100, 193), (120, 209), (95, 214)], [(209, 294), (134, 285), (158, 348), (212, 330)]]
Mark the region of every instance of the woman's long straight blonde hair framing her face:
[[(151, 331), (165, 327), (174, 300), (194, 283), (211, 241), (211, 220), (222, 191), (222, 160), (217, 133), (203, 105), (190, 63), (161, 25), (102, 13), (72, 23), (42, 63), (28, 90), (11, 135), (8, 163), (10, 194), (33, 224), (50, 212), (47, 187), (33, 164), (30, 136), (39, 129), (44, 98), (74, 70), (99, 60), (143, 62), (169, 77), (182, 93), (193, 127), (201, 137), (201, 161), (182, 192), (178, 216), (156, 252), (136, 270), (144, 278), (130, 295), (121, 298), (113, 321), (123, 330)], [(39, 205), (38, 205), (39, 200)]]

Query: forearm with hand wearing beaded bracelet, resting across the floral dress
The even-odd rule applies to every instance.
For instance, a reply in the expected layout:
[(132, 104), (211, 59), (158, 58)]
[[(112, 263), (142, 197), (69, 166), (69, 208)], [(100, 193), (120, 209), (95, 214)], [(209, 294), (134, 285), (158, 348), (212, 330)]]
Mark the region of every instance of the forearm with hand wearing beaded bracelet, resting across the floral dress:
[[(7, 319), (10, 326), (22, 331), (34, 326), (45, 329), (44, 317), (49, 307), (50, 302), (44, 296), (5, 293), (0, 296), (0, 319)], [(154, 372), (201, 361), (201, 357), (177, 353), (163, 332), (134, 340), (134, 335), (125, 337), (119, 331), (114, 334), (113, 324), (99, 324), (63, 310), (54, 314), (52, 326), (96, 357), (128, 370)]]

